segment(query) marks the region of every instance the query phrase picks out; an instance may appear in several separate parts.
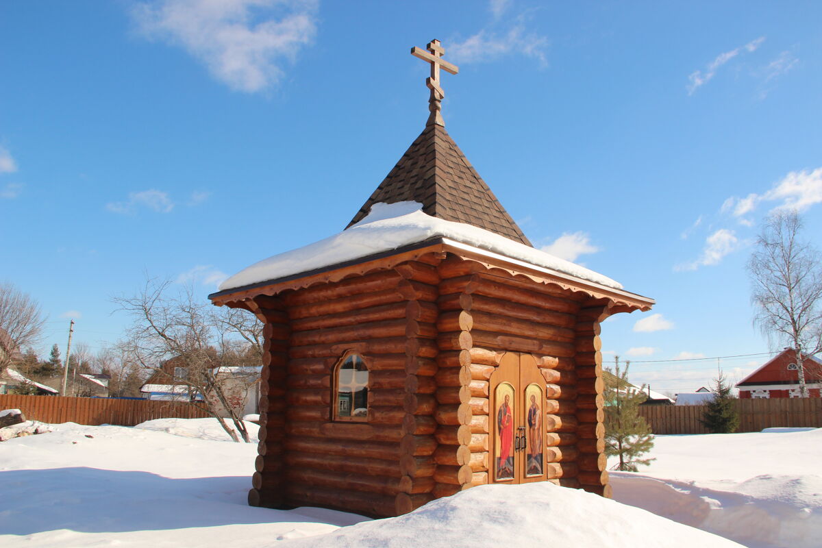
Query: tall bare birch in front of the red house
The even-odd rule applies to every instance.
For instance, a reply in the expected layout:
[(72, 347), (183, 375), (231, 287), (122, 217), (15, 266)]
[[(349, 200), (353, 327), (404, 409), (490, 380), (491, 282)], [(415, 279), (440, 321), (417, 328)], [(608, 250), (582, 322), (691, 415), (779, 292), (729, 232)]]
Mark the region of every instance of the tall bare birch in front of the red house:
[(806, 398), (803, 364), (822, 350), (822, 259), (819, 251), (800, 240), (801, 228), (796, 211), (771, 214), (748, 261), (748, 273), (754, 323), (772, 343), (792, 346), (800, 393)]

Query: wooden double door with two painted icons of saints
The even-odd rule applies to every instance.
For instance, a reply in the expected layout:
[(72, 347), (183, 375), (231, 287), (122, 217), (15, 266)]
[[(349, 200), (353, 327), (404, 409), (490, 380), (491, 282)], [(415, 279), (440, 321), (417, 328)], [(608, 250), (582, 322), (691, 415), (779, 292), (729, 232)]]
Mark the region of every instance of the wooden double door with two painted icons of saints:
[(506, 352), (490, 379), (493, 483), (545, 479), (545, 380), (530, 354)]

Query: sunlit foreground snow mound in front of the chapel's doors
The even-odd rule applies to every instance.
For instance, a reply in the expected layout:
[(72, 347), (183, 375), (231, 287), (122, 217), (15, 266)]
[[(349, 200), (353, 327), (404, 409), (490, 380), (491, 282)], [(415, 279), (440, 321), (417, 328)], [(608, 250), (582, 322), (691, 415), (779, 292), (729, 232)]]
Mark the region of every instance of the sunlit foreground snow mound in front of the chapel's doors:
[(583, 490), (536, 482), (473, 487), (434, 500), (399, 518), (358, 523), (323, 536), (289, 541), (283, 546), (730, 548), (740, 545)]

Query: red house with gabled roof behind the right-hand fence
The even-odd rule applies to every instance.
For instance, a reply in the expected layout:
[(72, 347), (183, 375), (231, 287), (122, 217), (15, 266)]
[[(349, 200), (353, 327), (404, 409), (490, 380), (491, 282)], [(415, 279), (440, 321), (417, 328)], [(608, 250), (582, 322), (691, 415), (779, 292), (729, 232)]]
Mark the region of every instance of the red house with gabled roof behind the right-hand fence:
[[(811, 398), (820, 397), (822, 361), (806, 357), (805, 383)], [(799, 398), (799, 367), (792, 348), (785, 348), (738, 384), (740, 398)]]

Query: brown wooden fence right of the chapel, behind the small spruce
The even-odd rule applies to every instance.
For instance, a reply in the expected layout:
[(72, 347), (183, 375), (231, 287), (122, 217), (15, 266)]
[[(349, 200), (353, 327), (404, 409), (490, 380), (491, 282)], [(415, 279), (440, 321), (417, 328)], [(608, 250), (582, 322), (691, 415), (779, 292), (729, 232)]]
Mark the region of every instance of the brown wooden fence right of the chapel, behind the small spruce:
[[(737, 432), (759, 432), (774, 426), (822, 427), (822, 398), (737, 399)], [(700, 418), (704, 405), (643, 405), (640, 415), (654, 434), (708, 434)]]

